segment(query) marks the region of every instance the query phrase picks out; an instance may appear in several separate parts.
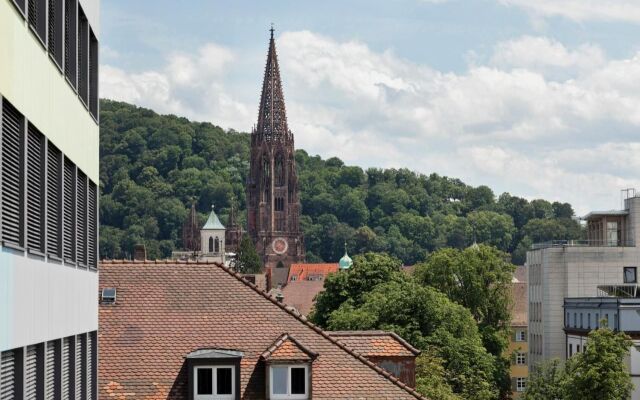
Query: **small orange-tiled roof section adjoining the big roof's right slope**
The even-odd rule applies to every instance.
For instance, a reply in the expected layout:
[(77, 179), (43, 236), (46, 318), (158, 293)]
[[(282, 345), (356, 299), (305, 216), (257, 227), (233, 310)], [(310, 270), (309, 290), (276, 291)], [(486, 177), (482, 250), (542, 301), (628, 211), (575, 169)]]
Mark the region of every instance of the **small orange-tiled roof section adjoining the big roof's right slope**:
[(393, 332), (330, 331), (327, 333), (365, 357), (415, 357), (420, 354), (420, 350)]

